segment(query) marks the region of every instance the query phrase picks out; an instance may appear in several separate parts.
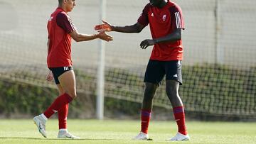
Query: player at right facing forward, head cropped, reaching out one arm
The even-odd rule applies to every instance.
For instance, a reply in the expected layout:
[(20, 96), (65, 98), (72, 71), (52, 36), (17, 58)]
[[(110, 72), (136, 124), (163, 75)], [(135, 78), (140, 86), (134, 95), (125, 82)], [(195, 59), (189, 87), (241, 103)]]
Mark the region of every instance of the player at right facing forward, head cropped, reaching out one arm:
[(113, 26), (106, 21), (95, 26), (97, 31), (117, 31), (121, 33), (140, 33), (148, 24), (152, 39), (140, 43), (142, 49), (154, 45), (149, 63), (146, 67), (144, 82), (146, 88), (141, 111), (141, 132), (134, 139), (147, 140), (152, 103), (156, 89), (166, 75), (166, 94), (171, 101), (178, 133), (168, 140), (189, 140), (185, 126), (185, 113), (178, 87), (182, 84), (181, 65), (183, 46), (181, 31), (184, 29), (180, 6), (167, 0), (149, 0), (137, 23), (131, 26)]

